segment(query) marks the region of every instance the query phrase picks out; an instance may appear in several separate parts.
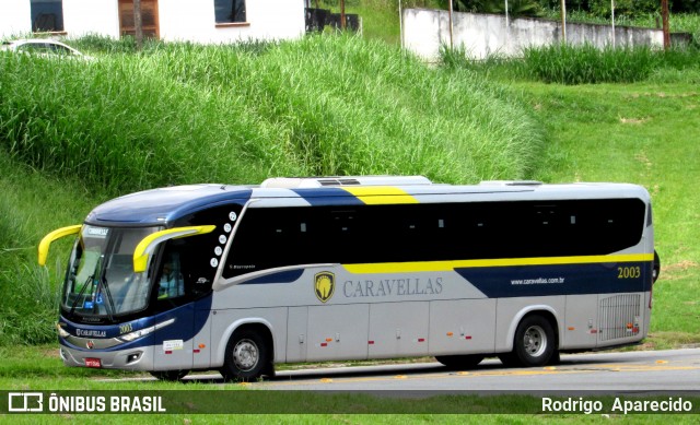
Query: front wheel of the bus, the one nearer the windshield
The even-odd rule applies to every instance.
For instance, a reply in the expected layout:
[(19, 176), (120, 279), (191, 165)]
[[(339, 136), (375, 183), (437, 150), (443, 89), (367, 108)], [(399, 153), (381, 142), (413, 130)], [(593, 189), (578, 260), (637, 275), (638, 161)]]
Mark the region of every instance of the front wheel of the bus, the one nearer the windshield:
[(252, 329), (236, 330), (226, 344), (221, 375), (226, 380), (257, 379), (268, 369), (270, 361), (269, 346), (262, 335)]

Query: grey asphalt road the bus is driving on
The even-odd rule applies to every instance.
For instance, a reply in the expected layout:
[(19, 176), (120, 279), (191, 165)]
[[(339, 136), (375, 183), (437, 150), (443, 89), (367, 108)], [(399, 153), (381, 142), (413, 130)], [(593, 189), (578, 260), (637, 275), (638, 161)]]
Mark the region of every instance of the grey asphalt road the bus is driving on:
[[(223, 382), (217, 373), (185, 380)], [(272, 379), (245, 385), (314, 391), (698, 391), (700, 349), (563, 354), (559, 365), (535, 368), (506, 368), (488, 358), (471, 370), (450, 370), (440, 363), (280, 370)]]

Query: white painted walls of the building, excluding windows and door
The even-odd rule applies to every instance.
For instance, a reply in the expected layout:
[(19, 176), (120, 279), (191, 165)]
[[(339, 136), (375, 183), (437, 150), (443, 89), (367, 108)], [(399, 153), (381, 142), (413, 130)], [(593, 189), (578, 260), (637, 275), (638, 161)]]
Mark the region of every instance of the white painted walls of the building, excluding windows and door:
[[(32, 32), (30, 0), (0, 0), (0, 36)], [(247, 0), (245, 24), (217, 25), (214, 0), (159, 0), (161, 38), (168, 42), (229, 43), (299, 38), (305, 32), (304, 0)], [(101, 34), (118, 38), (117, 0), (63, 0), (68, 37)]]

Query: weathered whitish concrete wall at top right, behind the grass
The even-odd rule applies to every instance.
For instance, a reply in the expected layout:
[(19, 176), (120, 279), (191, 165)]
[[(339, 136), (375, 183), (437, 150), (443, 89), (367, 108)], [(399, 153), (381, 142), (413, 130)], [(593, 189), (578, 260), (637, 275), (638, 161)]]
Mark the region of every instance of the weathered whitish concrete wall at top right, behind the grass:
[[(404, 46), (418, 56), (435, 60), (440, 46), (450, 46), (450, 13), (442, 10), (405, 9)], [(504, 15), (454, 12), (453, 46), (464, 47), (475, 59), (489, 55), (520, 56), (524, 47), (545, 46), (561, 43), (561, 22), (532, 17), (510, 20), (506, 26)], [(590, 43), (604, 47), (612, 44), (612, 28), (609, 25), (567, 24), (567, 43)], [(616, 46), (662, 47), (664, 36), (661, 29), (615, 27)]]

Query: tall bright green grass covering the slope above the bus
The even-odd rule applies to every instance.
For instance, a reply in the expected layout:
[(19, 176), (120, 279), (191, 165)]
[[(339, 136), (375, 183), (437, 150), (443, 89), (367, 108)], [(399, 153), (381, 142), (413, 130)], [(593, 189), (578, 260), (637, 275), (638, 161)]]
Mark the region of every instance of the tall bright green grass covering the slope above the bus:
[(271, 175), (525, 177), (541, 134), (498, 93), (357, 37), (253, 52), (161, 44), (89, 63), (4, 55), (0, 143), (113, 192)]

